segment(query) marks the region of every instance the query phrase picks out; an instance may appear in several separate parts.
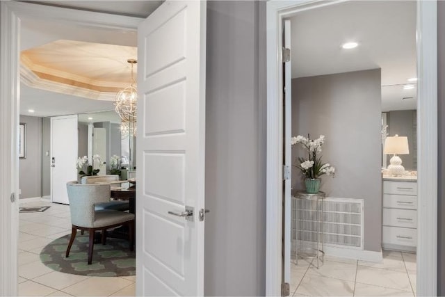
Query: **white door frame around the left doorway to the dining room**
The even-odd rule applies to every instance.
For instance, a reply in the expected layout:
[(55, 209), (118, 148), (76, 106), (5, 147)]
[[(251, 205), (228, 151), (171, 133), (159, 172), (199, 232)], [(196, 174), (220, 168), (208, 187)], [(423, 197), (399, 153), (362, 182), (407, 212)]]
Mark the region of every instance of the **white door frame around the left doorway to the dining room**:
[(10, 202), (10, 195), (16, 193), (18, 199), (20, 19), (32, 17), (128, 32), (136, 32), (143, 19), (17, 1), (0, 1), (0, 16), (0, 141), (10, 144), (2, 145), (0, 154), (3, 168), (10, 168), (0, 171), (0, 296), (17, 296), (18, 207), (17, 202)]

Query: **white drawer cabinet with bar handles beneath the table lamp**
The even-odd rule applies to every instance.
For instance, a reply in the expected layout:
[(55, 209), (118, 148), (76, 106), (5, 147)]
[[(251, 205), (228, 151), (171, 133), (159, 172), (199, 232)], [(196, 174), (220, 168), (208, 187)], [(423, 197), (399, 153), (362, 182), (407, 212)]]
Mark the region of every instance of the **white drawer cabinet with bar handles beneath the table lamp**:
[(416, 251), (417, 181), (383, 180), (382, 248)]

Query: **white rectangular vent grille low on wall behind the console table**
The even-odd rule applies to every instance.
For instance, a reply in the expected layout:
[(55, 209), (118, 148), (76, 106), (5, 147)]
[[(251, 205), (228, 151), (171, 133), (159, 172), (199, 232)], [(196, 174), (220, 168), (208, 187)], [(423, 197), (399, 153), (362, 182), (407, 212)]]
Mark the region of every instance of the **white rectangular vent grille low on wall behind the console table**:
[[(292, 199), (292, 239), (317, 241), (317, 215), (321, 207), (313, 200)], [(323, 202), (323, 243), (325, 246), (363, 249), (363, 200), (326, 198)], [(302, 232), (302, 230), (304, 230)], [(293, 245), (294, 249), (296, 245)]]

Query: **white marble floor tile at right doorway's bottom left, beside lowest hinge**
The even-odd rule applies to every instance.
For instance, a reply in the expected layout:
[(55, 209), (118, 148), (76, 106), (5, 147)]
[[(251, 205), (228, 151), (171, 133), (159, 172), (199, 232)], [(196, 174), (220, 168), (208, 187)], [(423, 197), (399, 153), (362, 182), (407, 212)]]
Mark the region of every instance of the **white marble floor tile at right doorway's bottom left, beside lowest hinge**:
[(296, 294), (305, 296), (353, 296), (354, 282), (309, 275), (303, 278)]

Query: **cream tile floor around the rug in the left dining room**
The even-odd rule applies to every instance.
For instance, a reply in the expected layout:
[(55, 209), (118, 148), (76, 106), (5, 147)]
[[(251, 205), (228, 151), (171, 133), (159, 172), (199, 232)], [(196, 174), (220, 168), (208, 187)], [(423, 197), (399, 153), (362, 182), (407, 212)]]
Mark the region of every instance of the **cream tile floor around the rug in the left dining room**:
[(135, 296), (136, 277), (101, 278), (53, 271), (40, 262), (47, 243), (70, 234), (70, 207), (28, 202), (20, 207), (51, 206), (19, 214), (19, 296)]

